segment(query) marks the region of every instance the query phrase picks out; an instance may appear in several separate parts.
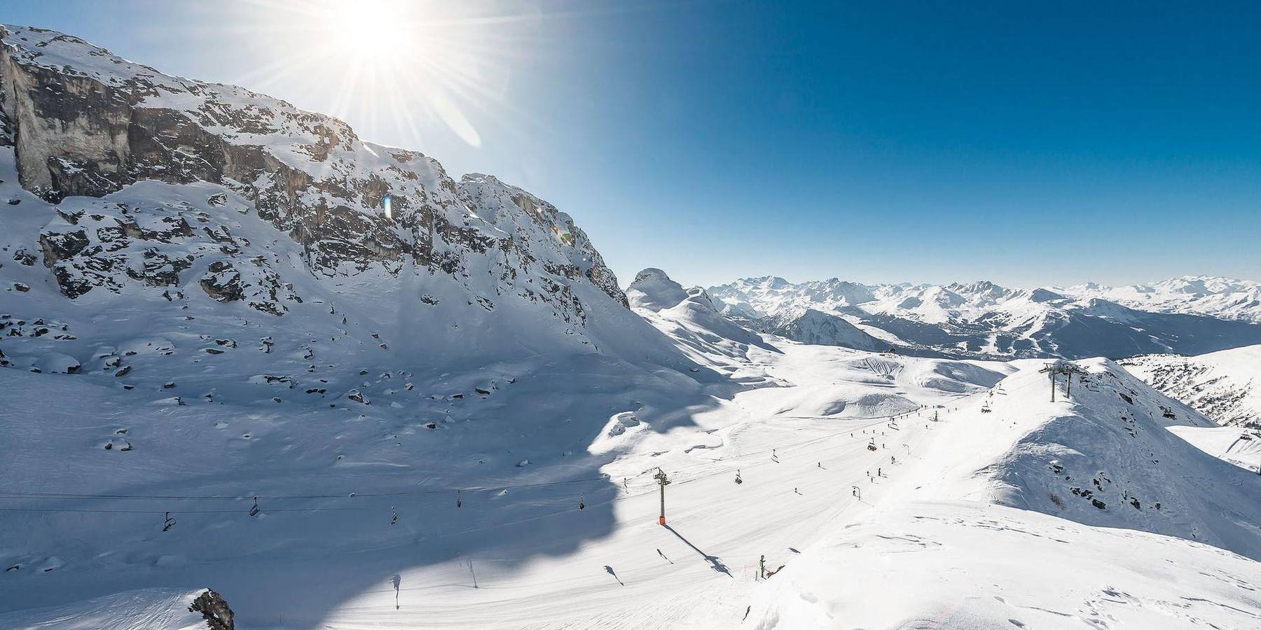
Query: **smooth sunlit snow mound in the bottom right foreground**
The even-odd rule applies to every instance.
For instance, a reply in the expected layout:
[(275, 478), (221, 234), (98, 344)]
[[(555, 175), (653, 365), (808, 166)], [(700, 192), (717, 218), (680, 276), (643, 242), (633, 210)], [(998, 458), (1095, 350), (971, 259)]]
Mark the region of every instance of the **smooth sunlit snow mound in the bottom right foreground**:
[(1204, 544), (918, 503), (803, 549), (754, 592), (740, 627), (1242, 630), (1257, 624), (1256, 575), (1253, 561)]

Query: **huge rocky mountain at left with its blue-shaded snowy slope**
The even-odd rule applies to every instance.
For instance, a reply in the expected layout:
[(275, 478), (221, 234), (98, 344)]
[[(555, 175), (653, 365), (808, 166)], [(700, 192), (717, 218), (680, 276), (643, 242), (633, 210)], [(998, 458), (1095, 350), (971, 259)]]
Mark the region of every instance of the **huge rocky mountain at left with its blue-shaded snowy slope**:
[[(0, 32), (0, 612), (222, 586), (247, 625), (274, 596), (314, 624), (386, 564), (484, 548), (465, 530), (504, 486), (527, 522), (585, 493), (565, 553), (607, 533), (608, 418), (666, 432), (747, 387), (493, 176), (42, 29)], [(335, 581), (304, 564), (329, 554)]]

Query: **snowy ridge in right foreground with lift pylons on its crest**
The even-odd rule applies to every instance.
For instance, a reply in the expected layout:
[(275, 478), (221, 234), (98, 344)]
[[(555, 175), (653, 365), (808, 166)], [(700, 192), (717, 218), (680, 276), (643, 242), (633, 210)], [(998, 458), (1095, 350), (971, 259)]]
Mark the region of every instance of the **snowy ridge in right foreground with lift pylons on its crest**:
[(927, 444), (888, 432), (907, 450), (856, 488), (866, 509), (755, 591), (743, 627), (1252, 627), (1261, 485), (1171, 433), (1222, 430), (1111, 362), (1055, 403), (1019, 363)]

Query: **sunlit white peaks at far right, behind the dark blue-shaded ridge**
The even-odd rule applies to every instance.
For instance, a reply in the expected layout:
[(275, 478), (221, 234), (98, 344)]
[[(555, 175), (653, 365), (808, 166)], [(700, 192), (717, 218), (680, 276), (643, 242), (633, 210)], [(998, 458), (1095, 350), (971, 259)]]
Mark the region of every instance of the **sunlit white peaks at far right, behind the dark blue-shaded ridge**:
[(1074, 297), (1098, 297), (1144, 311), (1185, 312), (1261, 324), (1261, 282), (1248, 280), (1182, 276), (1130, 286), (1088, 282), (1062, 291)]

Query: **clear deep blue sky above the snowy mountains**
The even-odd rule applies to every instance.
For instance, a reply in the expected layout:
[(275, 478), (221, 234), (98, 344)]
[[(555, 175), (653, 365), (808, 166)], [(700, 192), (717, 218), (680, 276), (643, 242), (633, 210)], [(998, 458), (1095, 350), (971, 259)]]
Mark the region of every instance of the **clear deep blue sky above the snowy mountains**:
[(1261, 278), (1256, 3), (407, 4), (382, 39), (427, 20), (458, 54), (349, 97), (344, 63), (286, 60), (357, 48), (295, 28), (304, 6), (0, 14), (497, 174), (623, 282)]

